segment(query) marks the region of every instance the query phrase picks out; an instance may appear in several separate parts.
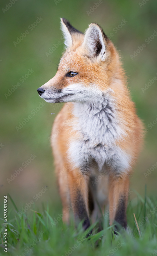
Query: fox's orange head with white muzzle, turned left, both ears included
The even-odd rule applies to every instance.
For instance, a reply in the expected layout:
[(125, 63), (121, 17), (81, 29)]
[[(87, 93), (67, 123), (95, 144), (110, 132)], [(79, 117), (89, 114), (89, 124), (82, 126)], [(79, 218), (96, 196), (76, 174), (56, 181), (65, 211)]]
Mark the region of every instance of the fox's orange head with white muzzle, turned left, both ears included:
[(97, 101), (120, 76), (116, 49), (96, 23), (83, 34), (61, 18), (61, 28), (66, 50), (55, 76), (37, 89), (39, 96), (50, 103)]

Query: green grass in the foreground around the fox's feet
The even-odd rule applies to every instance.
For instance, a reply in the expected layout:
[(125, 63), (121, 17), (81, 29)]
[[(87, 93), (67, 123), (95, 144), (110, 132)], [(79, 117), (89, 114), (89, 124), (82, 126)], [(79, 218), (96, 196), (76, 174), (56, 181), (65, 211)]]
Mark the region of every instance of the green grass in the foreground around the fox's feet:
[[(9, 200), (9, 199), (8, 199)], [(12, 201), (12, 199), (11, 199)], [(52, 210), (49, 204), (42, 205), (42, 212), (30, 209), (27, 214), (19, 214), (13, 207), (8, 214), (8, 254), (7, 255), (156, 255), (157, 254), (157, 199), (143, 199), (139, 194), (127, 208), (128, 232), (113, 234), (113, 226), (109, 226), (108, 218), (103, 218), (104, 229), (87, 237), (81, 223), (75, 228), (73, 217), (66, 226), (59, 217), (61, 212)], [(10, 202), (11, 204), (11, 202)], [(35, 208), (35, 206), (33, 206)], [(156, 208), (155, 208), (156, 207)], [(14, 208), (14, 210), (13, 210)], [(140, 234), (138, 232), (135, 213)], [(56, 221), (58, 218), (58, 221)], [(3, 223), (3, 220), (1, 219)], [(96, 223), (92, 226), (96, 226)], [(1, 229), (1, 238), (4, 228)], [(4, 241), (4, 238), (3, 238)], [(4, 255), (1, 247), (1, 255)], [(23, 253), (23, 254), (22, 254)], [(156, 253), (156, 254), (155, 254)]]

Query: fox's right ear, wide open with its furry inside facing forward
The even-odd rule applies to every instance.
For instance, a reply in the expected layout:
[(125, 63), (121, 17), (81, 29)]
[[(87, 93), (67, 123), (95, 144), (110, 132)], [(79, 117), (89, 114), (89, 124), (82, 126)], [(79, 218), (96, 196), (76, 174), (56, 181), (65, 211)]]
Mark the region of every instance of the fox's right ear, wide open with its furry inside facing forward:
[(96, 23), (91, 23), (86, 30), (83, 47), (90, 57), (99, 57), (104, 61), (107, 41), (108, 38), (102, 28)]

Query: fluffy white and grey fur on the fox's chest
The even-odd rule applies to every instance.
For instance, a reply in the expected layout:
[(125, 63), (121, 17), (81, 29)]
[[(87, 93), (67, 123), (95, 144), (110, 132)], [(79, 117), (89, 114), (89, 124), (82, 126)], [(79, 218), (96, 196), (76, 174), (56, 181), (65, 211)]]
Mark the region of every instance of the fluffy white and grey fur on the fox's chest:
[(74, 103), (73, 114), (78, 120), (73, 124), (78, 137), (70, 139), (68, 155), (74, 166), (90, 172), (94, 160), (99, 171), (105, 166), (116, 173), (126, 171), (130, 156), (115, 144), (124, 131), (120, 128), (114, 100), (102, 94), (98, 103)]

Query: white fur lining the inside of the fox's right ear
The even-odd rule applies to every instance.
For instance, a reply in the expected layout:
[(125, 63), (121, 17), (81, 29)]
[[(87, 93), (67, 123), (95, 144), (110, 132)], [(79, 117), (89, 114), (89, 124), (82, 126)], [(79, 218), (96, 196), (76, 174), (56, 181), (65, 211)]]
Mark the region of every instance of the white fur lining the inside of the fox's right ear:
[(101, 29), (96, 24), (90, 24), (89, 28), (86, 30), (83, 47), (88, 51), (89, 56), (94, 56), (96, 54), (97, 42), (102, 45), (99, 58), (103, 61), (105, 60), (105, 43)]

